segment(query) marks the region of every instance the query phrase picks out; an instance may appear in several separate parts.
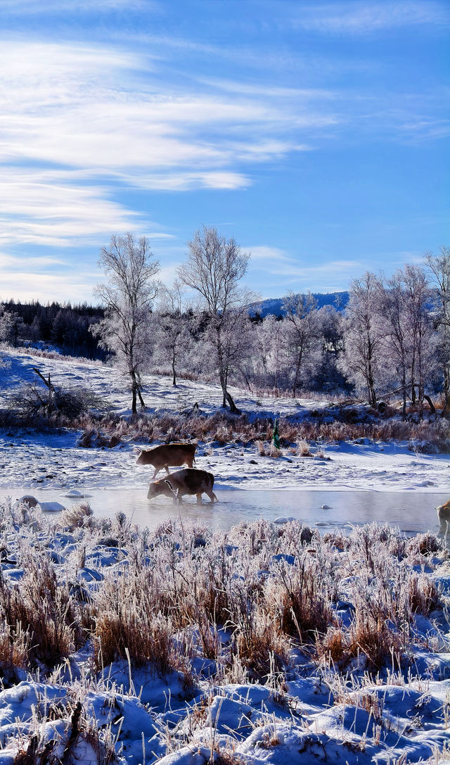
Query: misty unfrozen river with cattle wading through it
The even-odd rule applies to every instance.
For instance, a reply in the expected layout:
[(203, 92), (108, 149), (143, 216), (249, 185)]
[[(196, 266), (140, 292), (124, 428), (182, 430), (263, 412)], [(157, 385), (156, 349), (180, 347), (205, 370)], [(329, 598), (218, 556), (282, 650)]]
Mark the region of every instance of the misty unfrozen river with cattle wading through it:
[[(386, 491), (319, 490), (215, 490), (219, 502), (206, 500), (197, 505), (186, 497), (178, 508), (163, 497), (147, 500), (147, 488), (89, 489), (86, 497), (96, 516), (112, 518), (122, 511), (138, 526), (154, 529), (168, 518), (200, 521), (211, 529), (229, 529), (235, 523), (257, 518), (295, 518), (321, 532), (371, 521), (389, 522), (406, 533), (431, 529), (439, 532), (435, 507), (448, 500), (448, 494)], [(37, 490), (37, 499), (71, 506), (76, 498), (64, 497), (57, 490)], [(15, 494), (17, 496), (17, 493)], [(13, 499), (15, 499), (13, 496)], [(0, 496), (0, 499), (2, 497)], [(326, 507), (325, 507), (326, 506)]]

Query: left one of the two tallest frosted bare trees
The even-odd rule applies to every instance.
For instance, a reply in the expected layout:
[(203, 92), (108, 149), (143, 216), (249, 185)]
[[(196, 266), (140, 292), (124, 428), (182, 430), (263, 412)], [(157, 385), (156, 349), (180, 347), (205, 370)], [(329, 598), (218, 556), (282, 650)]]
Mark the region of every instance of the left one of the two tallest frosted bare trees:
[(131, 411), (137, 412), (137, 397), (144, 406), (141, 373), (149, 358), (153, 337), (149, 316), (159, 282), (159, 262), (152, 256), (145, 236), (112, 236), (100, 252), (99, 266), (107, 282), (96, 288), (105, 305), (105, 318), (92, 327), (103, 347), (113, 350), (131, 382)]

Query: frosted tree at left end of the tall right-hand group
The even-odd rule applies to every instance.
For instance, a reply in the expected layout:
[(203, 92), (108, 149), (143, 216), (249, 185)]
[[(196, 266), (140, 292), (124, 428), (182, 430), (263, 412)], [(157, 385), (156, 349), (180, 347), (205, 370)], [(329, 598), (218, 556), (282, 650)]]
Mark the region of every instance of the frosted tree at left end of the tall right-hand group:
[(380, 313), (383, 285), (373, 273), (354, 279), (346, 309), (345, 352), (342, 368), (358, 390), (367, 393), (369, 405), (377, 406), (381, 348), (385, 323)]

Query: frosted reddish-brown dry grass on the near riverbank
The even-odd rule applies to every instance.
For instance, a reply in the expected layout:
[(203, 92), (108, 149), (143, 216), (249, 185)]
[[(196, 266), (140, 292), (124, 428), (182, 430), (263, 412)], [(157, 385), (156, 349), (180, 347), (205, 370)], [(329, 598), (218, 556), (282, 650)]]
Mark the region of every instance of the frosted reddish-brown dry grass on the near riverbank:
[[(287, 671), (293, 646), (342, 669), (363, 657), (377, 671), (407, 656), (416, 614), (441, 605), (435, 584), (417, 571), (445, 557), (430, 533), (407, 540), (371, 524), (322, 538), (299, 522), (260, 520), (214, 534), (168, 522), (151, 534), (123, 514), (97, 521), (82, 504), (61, 517), (60, 533), (70, 530), (79, 544), (58, 565), (40, 514), (6, 510), (4, 538), (13, 528), (21, 536), (2, 555), (16, 555), (25, 569), (17, 581), (0, 578), (6, 675), (37, 663), (50, 669), (89, 638), (97, 669), (129, 659), (161, 675), (178, 670), (186, 687), (199, 654), (216, 663), (217, 682), (267, 681)], [(89, 588), (78, 573), (99, 544), (116, 551), (117, 563)], [(335, 615), (341, 599), (351, 603), (346, 623)]]

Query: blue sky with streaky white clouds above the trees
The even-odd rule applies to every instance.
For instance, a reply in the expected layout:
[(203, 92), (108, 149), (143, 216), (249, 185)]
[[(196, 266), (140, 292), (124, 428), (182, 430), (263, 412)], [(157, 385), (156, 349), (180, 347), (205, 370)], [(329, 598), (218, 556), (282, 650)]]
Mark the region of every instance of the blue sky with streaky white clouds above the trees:
[(0, 0), (0, 299), (96, 302), (196, 229), (262, 298), (448, 246), (450, 3)]

